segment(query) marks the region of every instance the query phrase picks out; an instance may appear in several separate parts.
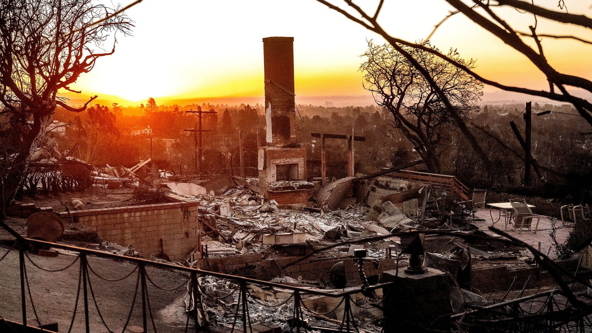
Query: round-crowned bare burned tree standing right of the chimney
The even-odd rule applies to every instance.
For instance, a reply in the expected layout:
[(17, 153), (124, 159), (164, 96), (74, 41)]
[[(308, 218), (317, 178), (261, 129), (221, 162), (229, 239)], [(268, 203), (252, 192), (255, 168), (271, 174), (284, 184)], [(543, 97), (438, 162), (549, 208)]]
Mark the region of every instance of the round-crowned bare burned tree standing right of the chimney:
[[(424, 45), (432, 48), (429, 43)], [(364, 54), (366, 61), (360, 67), (367, 82), (364, 87), (372, 92), (378, 105), (390, 111), (394, 127), (413, 144), (428, 171), (440, 173), (441, 148), (451, 142), (449, 136), (455, 128), (452, 114), (458, 115), (462, 121), (469, 120), (471, 113), (479, 110), (477, 102), (483, 84), (432, 53), (411, 47), (403, 47), (403, 50), (425, 69), (428, 76), (392, 46), (369, 41)], [(451, 50), (448, 57), (467, 68), (475, 66), (474, 60), (465, 61), (455, 50)], [(444, 103), (440, 95), (444, 95), (449, 103)]]

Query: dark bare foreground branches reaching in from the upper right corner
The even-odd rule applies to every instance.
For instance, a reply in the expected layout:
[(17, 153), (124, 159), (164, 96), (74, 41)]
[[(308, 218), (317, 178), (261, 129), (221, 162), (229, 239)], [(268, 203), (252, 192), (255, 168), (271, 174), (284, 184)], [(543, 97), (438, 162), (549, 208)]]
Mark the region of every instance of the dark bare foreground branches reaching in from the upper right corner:
[[(446, 107), (450, 107), (452, 110), (451, 101), (448, 100), (446, 94), (442, 89), (437, 88), (436, 82), (429, 78), (429, 72), (419, 62), (413, 59), (409, 52), (403, 49), (404, 46), (411, 47), (413, 49), (424, 50), (425, 52), (432, 53), (446, 62), (451, 63), (456, 68), (462, 69), (469, 75), (483, 82), (484, 84), (491, 85), (506, 91), (521, 92), (523, 94), (529, 94), (533, 96), (545, 97), (555, 101), (562, 101), (571, 103), (578, 110), (581, 116), (584, 117), (588, 123), (592, 124), (592, 103), (585, 100), (584, 98), (575, 97), (568, 91), (568, 87), (581, 88), (586, 91), (592, 92), (592, 81), (574, 75), (567, 75), (557, 71), (553, 65), (548, 62), (543, 52), (542, 38), (557, 38), (557, 39), (573, 39), (580, 41), (581, 43), (592, 43), (582, 37), (578, 36), (567, 36), (561, 34), (538, 34), (537, 29), (537, 18), (543, 17), (546, 20), (552, 21), (559, 24), (570, 24), (583, 28), (592, 28), (592, 19), (585, 17), (585, 15), (570, 14), (565, 7), (564, 0), (558, 0), (559, 10), (548, 9), (535, 5), (534, 2), (527, 2), (522, 0), (443, 0), (455, 8), (455, 11), (451, 12), (451, 15), (459, 14), (465, 15), (469, 20), (473, 21), (478, 27), (483, 28), (489, 33), (500, 39), (501, 43), (507, 44), (512, 47), (516, 52), (522, 53), (526, 56), (538, 70), (545, 75), (549, 89), (548, 91), (540, 91), (536, 89), (515, 87), (512, 85), (504, 85), (500, 82), (487, 79), (478, 75), (464, 63), (458, 62), (456, 59), (449, 57), (443, 53), (437, 52), (436, 50), (426, 47), (421, 43), (412, 43), (407, 40), (403, 40), (392, 36), (388, 33), (381, 24), (378, 23), (379, 14), (381, 14), (382, 5), (384, 0), (379, 0), (377, 6), (372, 9), (372, 12), (366, 11), (361, 5), (356, 4), (352, 0), (341, 1), (327, 1), (317, 0), (321, 4), (327, 5), (327, 7), (334, 9), (337, 12), (343, 14), (349, 20), (362, 25), (362, 27), (368, 30), (374, 31), (375, 33), (382, 36), (391, 46), (400, 52), (406, 59), (413, 64), (413, 66), (424, 76), (428, 84), (435, 90), (439, 98), (442, 99), (442, 103)], [(366, 4), (364, 4), (366, 7)], [(501, 14), (497, 14), (497, 9), (503, 8), (515, 8), (517, 11), (522, 12), (523, 15), (532, 15), (533, 25), (529, 26), (529, 32), (522, 32), (513, 28)], [(390, 17), (389, 19), (393, 19)], [(439, 26), (436, 25), (436, 28)], [(431, 36), (431, 35), (430, 35)], [(535, 41), (534, 46), (529, 46), (527, 41)], [(472, 135), (467, 124), (462, 119), (461, 115), (455, 112), (451, 113), (451, 117), (455, 120), (456, 125), (464, 133), (468, 142), (472, 148), (478, 153), (482, 161), (487, 161), (487, 156), (480, 148), (474, 135)]]

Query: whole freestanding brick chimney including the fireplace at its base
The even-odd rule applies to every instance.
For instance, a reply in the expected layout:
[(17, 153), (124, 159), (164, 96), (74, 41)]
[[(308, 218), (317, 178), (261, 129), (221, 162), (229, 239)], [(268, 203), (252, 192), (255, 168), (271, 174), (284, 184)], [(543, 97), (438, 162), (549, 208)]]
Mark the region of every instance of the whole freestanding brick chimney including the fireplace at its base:
[(308, 203), (306, 149), (296, 142), (294, 37), (263, 39), (267, 146), (259, 148), (259, 186), (278, 204)]

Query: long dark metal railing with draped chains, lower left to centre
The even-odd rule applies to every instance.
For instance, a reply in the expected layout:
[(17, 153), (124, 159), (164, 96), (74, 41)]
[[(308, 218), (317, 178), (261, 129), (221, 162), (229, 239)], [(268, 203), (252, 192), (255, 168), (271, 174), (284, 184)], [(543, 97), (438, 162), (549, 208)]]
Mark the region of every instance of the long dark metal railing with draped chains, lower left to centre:
[[(0, 221), (0, 226), (8, 228), (5, 225), (5, 223), (1, 222), (1, 221)], [(11, 233), (14, 232), (12, 229), (9, 229), (9, 228), (7, 230), (11, 231)], [(153, 317), (152, 306), (150, 306), (150, 296), (148, 293), (149, 286), (153, 286), (153, 287), (156, 287), (157, 289), (166, 290), (169, 292), (172, 290), (179, 290), (182, 287), (187, 287), (188, 294), (190, 295), (191, 299), (194, 301), (193, 301), (193, 309), (190, 311), (187, 311), (185, 332), (189, 331), (189, 322), (190, 322), (191, 316), (194, 317), (194, 321), (195, 321), (195, 325), (194, 325), (194, 328), (192, 329), (192, 331), (200, 332), (204, 329), (204, 325), (207, 323), (201, 322), (201, 325), (200, 325), (200, 321), (198, 320), (198, 318), (200, 318), (200, 316), (201, 316), (200, 311), (203, 311), (203, 308), (202, 308), (201, 301), (197, 302), (197, 300), (201, 300), (202, 299), (201, 297), (204, 297), (205, 299), (207, 299), (208, 297), (213, 297), (213, 299), (223, 298), (218, 295), (212, 296), (211, 294), (208, 294), (205, 291), (205, 289), (201, 286), (201, 283), (200, 283), (202, 281), (201, 279), (203, 277), (221, 278), (223, 280), (230, 280), (234, 284), (236, 284), (236, 289), (234, 289), (233, 292), (231, 292), (225, 296), (225, 297), (233, 297), (232, 304), (235, 306), (234, 307), (234, 322), (233, 322), (233, 325), (231, 328), (231, 332), (233, 332), (235, 329), (237, 329), (237, 331), (242, 331), (243, 333), (247, 333), (247, 332), (250, 333), (253, 331), (252, 320), (250, 318), (251, 316), (250, 316), (250, 311), (249, 311), (249, 303), (253, 303), (253, 302), (261, 303), (261, 302), (256, 300), (255, 297), (253, 297), (249, 293), (249, 290), (247, 289), (247, 284), (252, 284), (252, 285), (262, 286), (262, 287), (280, 288), (282, 290), (290, 290), (291, 291), (291, 296), (289, 296), (288, 299), (284, 300), (282, 302), (282, 304), (292, 302), (292, 311), (291, 311), (291, 329), (292, 329), (292, 331), (301, 332), (301, 330), (307, 330), (307, 327), (305, 325), (303, 325), (305, 313), (309, 312), (312, 314), (323, 315), (323, 314), (326, 314), (329, 312), (333, 312), (334, 310), (339, 308), (340, 305), (345, 304), (345, 306), (343, 308), (343, 311), (344, 311), (343, 312), (343, 320), (341, 321), (338, 329), (339, 329), (339, 331), (343, 331), (343, 332), (350, 332), (350, 331), (358, 331), (359, 332), (358, 324), (356, 323), (356, 319), (354, 318), (353, 313), (352, 313), (352, 306), (351, 306), (352, 303), (351, 302), (353, 302), (353, 300), (352, 300), (351, 296), (352, 296), (352, 294), (361, 293), (362, 288), (356, 288), (356, 289), (342, 291), (342, 292), (327, 292), (327, 291), (320, 290), (320, 289), (308, 289), (308, 288), (304, 288), (304, 287), (288, 286), (288, 285), (281, 284), (281, 283), (274, 283), (274, 282), (270, 282), (270, 281), (257, 280), (255, 278), (232, 276), (229, 274), (217, 273), (214, 271), (205, 271), (205, 270), (200, 270), (198, 268), (189, 268), (189, 267), (184, 267), (181, 265), (169, 264), (166, 262), (150, 261), (150, 260), (146, 260), (146, 259), (142, 259), (142, 258), (126, 257), (126, 256), (117, 255), (117, 254), (111, 254), (110, 252), (98, 251), (98, 250), (94, 250), (94, 249), (80, 248), (77, 246), (39, 241), (37, 239), (24, 238), (24, 237), (18, 235), (17, 233), (13, 233), (13, 235), (16, 238), (14, 241), (14, 244), (12, 245), (11, 248), (8, 249), (7, 252), (5, 252), (2, 255), (2, 257), (0, 257), (0, 265), (2, 264), (2, 260), (4, 260), (11, 251), (18, 251), (18, 262), (19, 262), (19, 271), (20, 271), (20, 300), (21, 300), (22, 323), (17, 323), (15, 321), (5, 320), (4, 319), (5, 314), (0, 313), (0, 328), (2, 328), (2, 327), (6, 328), (5, 330), (7, 332), (36, 331), (36, 329), (34, 327), (32, 327), (34, 325), (29, 325), (30, 321), (27, 321), (27, 306), (30, 306), (30, 308), (33, 309), (34, 324), (38, 324), (39, 326), (41, 325), (41, 321), (38, 316), (38, 313), (40, 312), (40, 310), (36, 308), (35, 303), (33, 301), (33, 296), (31, 294), (31, 288), (30, 288), (31, 281), (29, 280), (28, 275), (27, 275), (27, 265), (26, 265), (27, 261), (31, 262), (31, 264), (33, 264), (34, 267), (36, 267), (40, 270), (43, 270), (47, 274), (66, 270), (67, 268), (72, 267), (73, 265), (76, 264), (76, 262), (78, 262), (78, 264), (79, 264), (78, 290), (76, 292), (76, 300), (75, 300), (75, 304), (74, 304), (73, 315), (70, 320), (69, 329), (67, 330), (68, 333), (70, 333), (72, 331), (72, 327), (73, 327), (73, 324), (76, 319), (78, 308), (80, 306), (83, 307), (84, 321), (85, 321), (85, 325), (84, 325), (85, 332), (91, 331), (91, 324), (90, 324), (91, 318), (89, 316), (89, 310), (91, 310), (93, 308), (94, 308), (93, 311), (96, 311), (96, 313), (100, 319), (100, 323), (102, 323), (102, 325), (104, 325), (105, 328), (107, 328), (108, 332), (122, 332), (122, 333), (125, 332), (126, 328), (130, 324), (130, 319), (132, 318), (132, 313), (134, 311), (134, 307), (136, 306), (136, 303), (138, 301), (137, 296), (138, 296), (139, 291), (140, 291), (140, 299), (141, 299), (141, 313), (142, 313), (141, 318), (142, 318), (143, 332), (148, 332), (148, 331), (156, 332), (157, 328), (156, 328), (156, 324), (155, 324), (155, 318)], [(31, 261), (31, 258), (27, 252), (28, 249), (31, 248), (31, 246), (36, 246), (37, 248), (41, 247), (41, 246), (47, 248), (48, 246), (50, 246), (51, 248), (73, 251), (73, 252), (76, 252), (78, 255), (76, 256), (76, 259), (74, 261), (72, 261), (70, 264), (68, 264), (66, 267), (59, 268), (57, 270), (48, 270), (46, 268), (40, 267), (34, 261)], [(91, 265), (89, 265), (89, 262), (88, 262), (89, 256), (108, 258), (108, 259), (115, 260), (115, 261), (127, 261), (127, 262), (131, 262), (133, 264), (136, 264), (136, 267), (123, 277), (107, 278), (107, 277), (101, 276), (100, 274), (96, 273), (95, 269), (92, 268)], [(173, 270), (173, 271), (185, 273), (185, 274), (188, 274), (188, 278), (185, 281), (185, 283), (182, 283), (180, 286), (176, 286), (176, 287), (173, 287), (170, 289), (163, 288), (161, 286), (157, 286), (157, 284), (155, 284), (153, 282), (153, 278), (150, 278), (149, 274), (146, 273), (146, 267), (155, 267), (155, 268), (168, 269), (168, 270)], [(135, 286), (135, 292), (133, 294), (133, 299), (131, 300), (130, 311), (127, 315), (127, 320), (123, 324), (122, 327), (117, 328), (117, 329), (113, 329), (112, 327), (109, 327), (107, 325), (107, 323), (105, 322), (104, 315), (102, 315), (102, 313), (101, 313), (101, 310), (100, 310), (98, 303), (97, 303), (97, 299), (95, 297), (95, 289), (93, 289), (93, 282), (92, 281), (95, 278), (98, 278), (98, 279), (104, 280), (104, 281), (108, 281), (108, 282), (121, 281), (121, 280), (124, 280), (125, 278), (128, 278), (128, 277), (133, 278), (134, 273), (136, 275), (135, 276), (136, 286)], [(389, 284), (389, 283), (376, 284), (374, 286), (366, 287), (365, 290), (369, 291), (369, 290), (380, 289), (380, 288), (386, 286), (387, 284)], [(236, 292), (238, 292), (238, 294), (237, 294), (236, 301), (235, 301), (234, 294)], [(307, 306), (305, 305), (305, 303), (303, 302), (303, 299), (302, 299), (303, 294), (341, 298), (341, 300), (339, 302), (339, 305), (337, 305), (337, 307), (335, 309), (333, 309), (332, 311), (329, 311), (326, 313), (316, 313), (313, 310), (307, 308)], [(2, 296), (0, 295), (0, 297), (2, 297)], [(29, 304), (27, 304), (27, 303), (29, 303)], [(82, 303), (82, 305), (80, 305), (79, 303)], [(269, 305), (268, 304), (268, 306), (279, 306), (279, 305)], [(242, 323), (242, 325), (238, 325), (238, 326), (242, 326), (242, 328), (240, 328), (240, 329), (237, 328), (238, 319), (240, 319), (240, 322)], [(94, 324), (98, 324), (98, 321), (96, 321), (96, 318), (94, 318), (93, 320), (94, 320)], [(353, 330), (352, 330), (352, 328), (353, 328)], [(45, 329), (44, 331), (47, 331), (47, 329)]]

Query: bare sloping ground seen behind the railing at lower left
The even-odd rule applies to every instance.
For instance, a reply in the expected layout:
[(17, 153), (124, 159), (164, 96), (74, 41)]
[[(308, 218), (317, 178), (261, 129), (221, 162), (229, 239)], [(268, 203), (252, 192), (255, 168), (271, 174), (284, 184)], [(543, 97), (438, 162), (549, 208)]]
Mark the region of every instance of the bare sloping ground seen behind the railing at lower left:
[[(0, 246), (0, 257), (6, 253), (8, 248)], [(28, 254), (31, 261), (46, 270), (59, 270), (66, 267), (74, 260), (75, 255), (60, 254), (58, 257), (40, 257)], [(39, 316), (51, 318), (57, 321), (60, 332), (67, 332), (72, 318), (76, 294), (79, 282), (79, 262), (63, 271), (46, 272), (35, 267), (25, 257), (27, 276), (33, 297), (34, 306)], [(126, 276), (136, 266), (127, 262), (116, 262), (104, 258), (89, 257), (89, 265), (102, 277), (115, 279)], [(180, 286), (186, 281), (186, 276), (175, 271), (159, 270), (147, 267), (147, 275), (160, 287), (171, 289)], [(96, 303), (101, 315), (107, 322), (111, 331), (121, 332), (126, 322), (133, 295), (136, 289), (137, 271), (130, 277), (121, 281), (105, 281), (91, 275), (90, 283), (94, 290)], [(185, 330), (185, 306), (183, 296), (185, 287), (172, 291), (157, 289), (150, 281), (146, 281), (149, 291), (150, 306), (154, 316), (156, 330), (158, 332), (183, 332)], [(72, 332), (83, 332), (85, 330), (84, 303), (82, 287), (76, 311), (76, 318)], [(91, 293), (89, 295), (89, 322), (92, 332), (108, 332), (95, 309)], [(142, 326), (142, 303), (140, 289), (137, 293), (136, 305), (130, 320), (130, 325)], [(18, 252), (11, 251), (0, 261), (0, 316), (21, 322), (21, 294)], [(27, 297), (27, 321), (33, 325), (35, 315), (31, 307), (30, 299)], [(150, 319), (148, 321), (152, 331)], [(190, 329), (193, 327), (192, 319), (189, 322)], [(130, 331), (133, 331), (133, 327)]]

